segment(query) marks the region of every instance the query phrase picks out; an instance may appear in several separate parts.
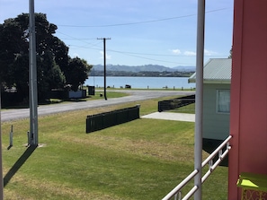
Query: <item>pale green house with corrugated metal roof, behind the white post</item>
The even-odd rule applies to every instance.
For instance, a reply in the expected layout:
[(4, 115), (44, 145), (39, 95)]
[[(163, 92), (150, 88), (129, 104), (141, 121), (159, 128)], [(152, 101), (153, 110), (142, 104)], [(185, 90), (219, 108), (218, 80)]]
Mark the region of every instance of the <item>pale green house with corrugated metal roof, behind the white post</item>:
[[(204, 65), (203, 149), (217, 146), (229, 135), (231, 68), (231, 58), (212, 58)], [(196, 74), (188, 82), (195, 83)]]

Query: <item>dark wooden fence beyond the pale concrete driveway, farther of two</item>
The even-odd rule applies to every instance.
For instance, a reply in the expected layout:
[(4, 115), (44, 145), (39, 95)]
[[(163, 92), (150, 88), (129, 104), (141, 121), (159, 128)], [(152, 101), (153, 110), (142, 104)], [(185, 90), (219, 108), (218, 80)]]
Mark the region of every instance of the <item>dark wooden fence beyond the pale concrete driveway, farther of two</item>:
[(195, 95), (189, 95), (185, 97), (180, 97), (172, 100), (162, 100), (158, 101), (158, 107), (157, 110), (159, 112), (165, 111), (165, 110), (171, 110), (171, 109), (178, 109), (183, 106), (187, 106), (191, 103), (195, 102)]

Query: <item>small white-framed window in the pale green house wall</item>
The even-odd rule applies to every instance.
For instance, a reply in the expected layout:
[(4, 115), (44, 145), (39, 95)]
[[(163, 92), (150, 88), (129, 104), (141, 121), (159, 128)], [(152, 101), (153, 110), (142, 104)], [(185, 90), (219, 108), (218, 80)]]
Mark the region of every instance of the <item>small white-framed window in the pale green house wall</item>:
[(230, 90), (217, 91), (217, 112), (230, 113)]

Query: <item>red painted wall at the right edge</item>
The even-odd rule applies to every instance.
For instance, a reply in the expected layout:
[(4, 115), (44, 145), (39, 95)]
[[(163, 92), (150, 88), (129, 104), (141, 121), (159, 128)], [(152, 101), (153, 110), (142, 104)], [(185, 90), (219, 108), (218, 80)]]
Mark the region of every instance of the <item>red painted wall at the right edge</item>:
[(267, 174), (267, 1), (235, 0), (228, 199), (240, 172)]

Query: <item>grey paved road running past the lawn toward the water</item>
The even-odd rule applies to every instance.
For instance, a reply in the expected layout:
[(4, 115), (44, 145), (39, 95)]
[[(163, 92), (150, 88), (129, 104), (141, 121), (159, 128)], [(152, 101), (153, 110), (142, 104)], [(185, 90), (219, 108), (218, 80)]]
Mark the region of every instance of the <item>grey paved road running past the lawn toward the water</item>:
[[(124, 92), (124, 91), (123, 91)], [(105, 106), (116, 105), (120, 103), (133, 102), (138, 100), (149, 100), (156, 99), (159, 97), (173, 96), (173, 95), (191, 95), (193, 91), (134, 91), (129, 90), (125, 91), (130, 95), (121, 98), (112, 98), (108, 100), (88, 100), (82, 102), (70, 102), (63, 104), (53, 104), (39, 106), (38, 115), (49, 115), (53, 113), (59, 113), (64, 111), (71, 111), (76, 109), (91, 109), (99, 108)], [(20, 118), (29, 118), (30, 110), (29, 109), (8, 109), (1, 111), (1, 121), (9, 121)]]

